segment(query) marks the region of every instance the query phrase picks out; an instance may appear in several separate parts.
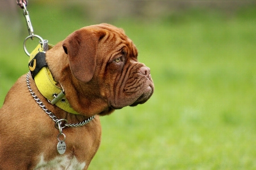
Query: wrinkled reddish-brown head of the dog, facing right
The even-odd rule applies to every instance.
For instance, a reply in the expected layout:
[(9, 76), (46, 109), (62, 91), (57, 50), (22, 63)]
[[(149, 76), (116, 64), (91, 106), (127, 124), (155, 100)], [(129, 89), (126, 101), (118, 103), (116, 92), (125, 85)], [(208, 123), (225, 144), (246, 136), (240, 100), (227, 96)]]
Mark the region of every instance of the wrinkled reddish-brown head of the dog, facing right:
[[(100, 105), (103, 101), (105, 107), (99, 113), (104, 115), (143, 104), (153, 94), (150, 69), (138, 62), (138, 50), (123, 29), (110, 24), (91, 25), (71, 33), (62, 46), (73, 86), (79, 91), (77, 102), (84, 97), (97, 99)], [(74, 95), (66, 92), (67, 98)]]

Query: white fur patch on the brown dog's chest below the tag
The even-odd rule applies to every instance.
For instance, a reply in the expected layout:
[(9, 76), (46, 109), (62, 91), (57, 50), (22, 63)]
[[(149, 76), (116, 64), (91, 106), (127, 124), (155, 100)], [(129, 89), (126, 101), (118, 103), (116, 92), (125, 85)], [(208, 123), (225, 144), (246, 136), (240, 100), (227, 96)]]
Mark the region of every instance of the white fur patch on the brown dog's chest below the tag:
[(69, 159), (67, 155), (57, 156), (55, 159), (52, 159), (48, 162), (44, 160), (44, 156), (40, 157), (39, 163), (36, 165), (35, 169), (56, 169), (56, 170), (72, 170), (72, 169), (84, 169), (85, 163), (79, 163), (74, 156), (72, 159)]

